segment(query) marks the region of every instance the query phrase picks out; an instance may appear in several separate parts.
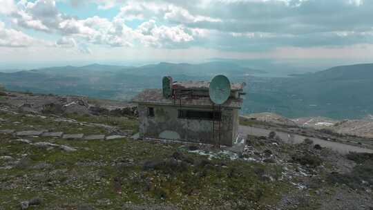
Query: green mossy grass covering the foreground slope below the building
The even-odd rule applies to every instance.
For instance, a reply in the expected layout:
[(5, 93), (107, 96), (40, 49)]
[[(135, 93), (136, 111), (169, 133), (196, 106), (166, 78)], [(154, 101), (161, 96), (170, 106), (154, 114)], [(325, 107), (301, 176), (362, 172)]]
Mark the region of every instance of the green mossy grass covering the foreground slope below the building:
[[(46, 126), (55, 131), (106, 132), (100, 128), (65, 126), (64, 123), (26, 115), (15, 117), (0, 113), (0, 117), (23, 122), (23, 125)], [(85, 117), (84, 120), (89, 119)], [(1, 124), (1, 128), (17, 130), (18, 126), (22, 125)], [(205, 157), (187, 154), (180, 144), (153, 144), (126, 139), (90, 142), (34, 139), (35, 142), (55, 142), (79, 149), (66, 153), (14, 142), (15, 137), (11, 135), (0, 135), (0, 139), (0, 156), (8, 155), (19, 160), (12, 169), (0, 169), (0, 207), (4, 209), (19, 209), (20, 201), (35, 196), (45, 199), (38, 209), (77, 209), (83, 204), (98, 209), (126, 209), (123, 205), (129, 203), (163, 204), (182, 209), (224, 204), (241, 209), (265, 209), (265, 205), (275, 204), (281, 194), (290, 189), (289, 183), (265, 182), (255, 173), (255, 169), (268, 169), (280, 174), (277, 166), (227, 158), (213, 160), (212, 164), (203, 166), (198, 162), (206, 160)], [(193, 158), (196, 163), (176, 170), (143, 169), (144, 162), (169, 158), (175, 151)], [(0, 160), (0, 165), (8, 164), (7, 161)], [(115, 190), (115, 183), (120, 183), (122, 194)]]

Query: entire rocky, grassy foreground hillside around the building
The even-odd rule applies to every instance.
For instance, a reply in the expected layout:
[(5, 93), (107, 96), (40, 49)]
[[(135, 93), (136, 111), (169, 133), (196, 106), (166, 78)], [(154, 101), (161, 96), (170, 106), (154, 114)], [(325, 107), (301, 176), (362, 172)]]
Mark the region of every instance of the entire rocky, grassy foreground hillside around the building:
[(370, 154), (275, 132), (221, 149), (139, 140), (131, 107), (3, 94), (0, 209), (373, 208)]

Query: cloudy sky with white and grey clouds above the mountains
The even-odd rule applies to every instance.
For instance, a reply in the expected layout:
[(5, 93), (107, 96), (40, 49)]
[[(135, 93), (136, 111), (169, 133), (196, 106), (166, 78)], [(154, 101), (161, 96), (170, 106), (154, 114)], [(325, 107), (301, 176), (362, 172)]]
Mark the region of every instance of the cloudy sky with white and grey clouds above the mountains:
[(0, 68), (373, 62), (372, 0), (0, 0)]

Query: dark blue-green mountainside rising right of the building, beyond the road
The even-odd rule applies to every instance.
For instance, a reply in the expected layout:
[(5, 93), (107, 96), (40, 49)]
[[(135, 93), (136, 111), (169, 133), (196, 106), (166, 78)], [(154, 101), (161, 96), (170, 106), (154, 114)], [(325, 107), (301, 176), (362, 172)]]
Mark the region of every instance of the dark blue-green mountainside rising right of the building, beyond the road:
[(336, 66), (298, 77), (254, 82), (251, 86), (245, 107), (254, 112), (335, 119), (373, 113), (373, 64)]

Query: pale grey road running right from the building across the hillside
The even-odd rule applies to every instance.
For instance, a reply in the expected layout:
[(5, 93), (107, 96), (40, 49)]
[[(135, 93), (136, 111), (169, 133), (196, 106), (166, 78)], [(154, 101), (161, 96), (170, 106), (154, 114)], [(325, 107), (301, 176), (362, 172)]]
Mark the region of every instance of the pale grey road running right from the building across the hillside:
[[(264, 129), (264, 128), (256, 128), (251, 126), (240, 126), (238, 128), (238, 132), (242, 133), (243, 135), (255, 135), (255, 136), (268, 136), (271, 130)], [(296, 134), (289, 134), (285, 132), (276, 131), (276, 134), (284, 141), (290, 144), (297, 144), (303, 142), (305, 138), (309, 138), (310, 140), (314, 141), (314, 144), (320, 144), (321, 146), (327, 147), (334, 151), (338, 151), (339, 153), (349, 153), (349, 152), (356, 152), (356, 153), (373, 153), (372, 149), (365, 149), (359, 146), (352, 146), (348, 144), (342, 144), (339, 142), (331, 142), (326, 140), (321, 140), (314, 137), (306, 137), (303, 135), (296, 135)]]

